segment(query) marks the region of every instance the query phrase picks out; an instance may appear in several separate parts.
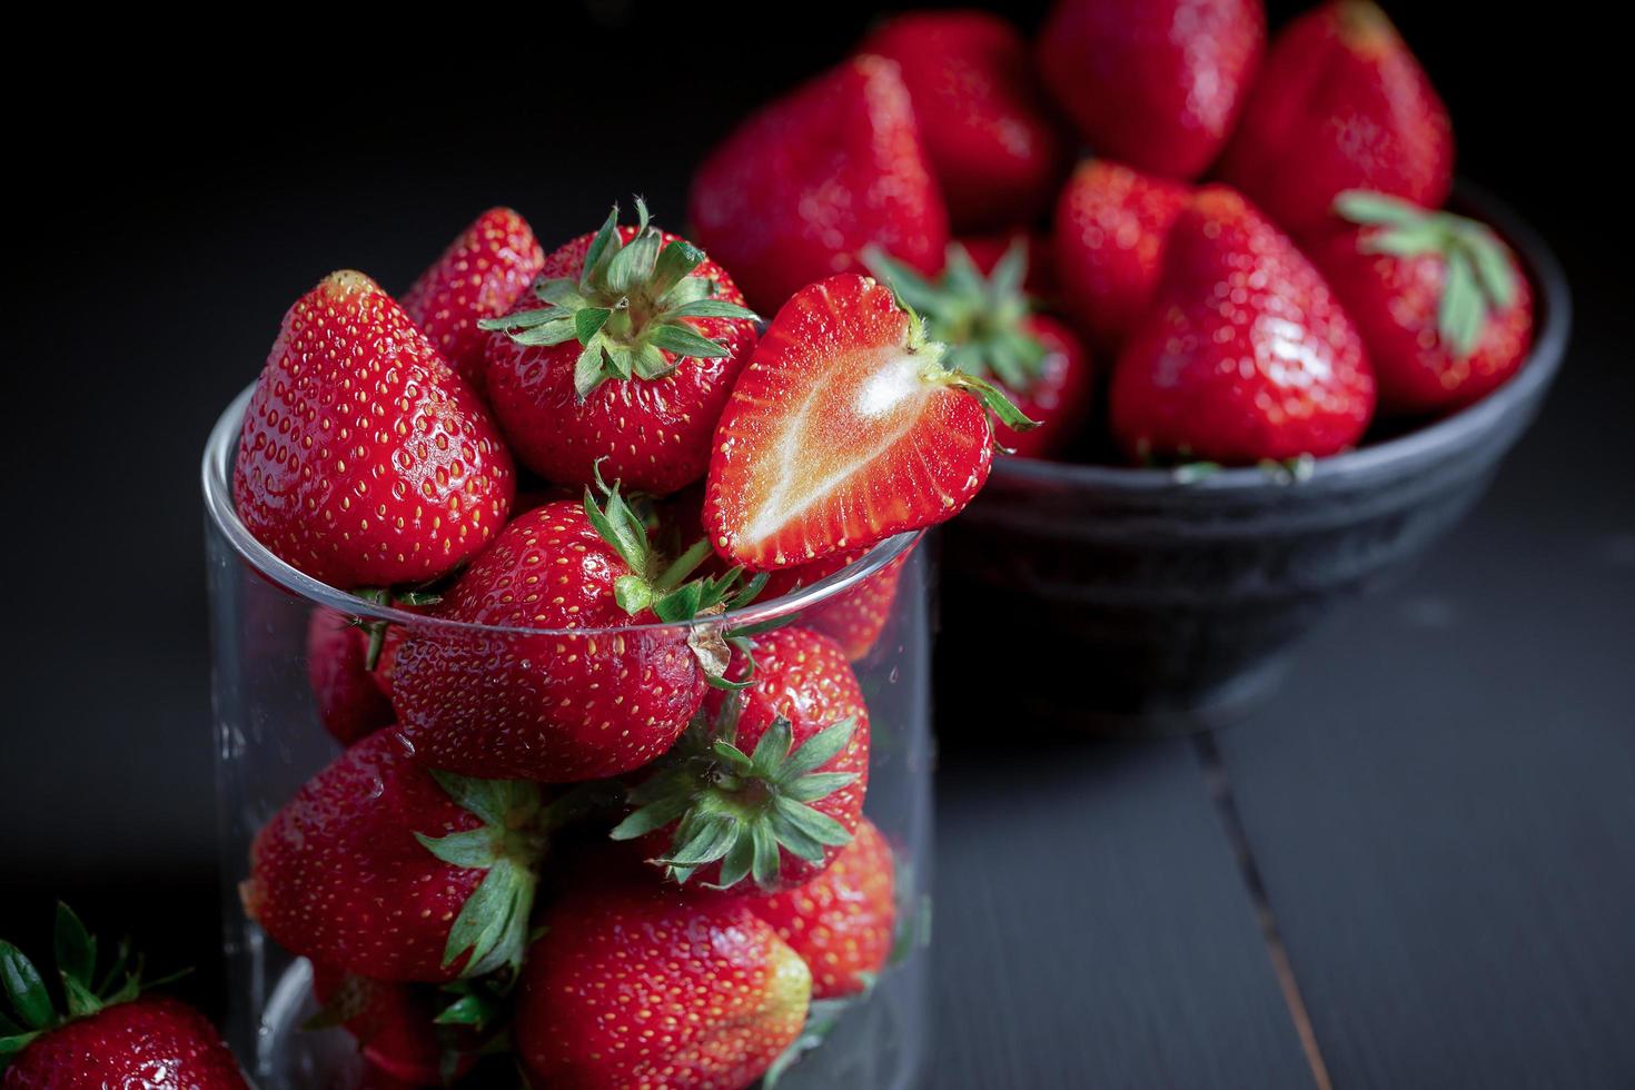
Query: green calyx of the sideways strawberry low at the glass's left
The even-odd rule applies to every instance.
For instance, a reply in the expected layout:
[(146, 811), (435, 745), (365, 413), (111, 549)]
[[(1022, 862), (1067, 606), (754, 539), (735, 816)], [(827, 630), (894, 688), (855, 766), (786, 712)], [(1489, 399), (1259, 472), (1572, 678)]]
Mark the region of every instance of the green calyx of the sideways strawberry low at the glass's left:
[(476, 780), (446, 771), (432, 776), (482, 824), (446, 837), (415, 833), (415, 840), (443, 863), (487, 871), (455, 917), (443, 966), (469, 954), (459, 971), (464, 979), (499, 969), (515, 974), (528, 946), (528, 915), (551, 833), (603, 804), (607, 788), (584, 784), (546, 804), (540, 786), (523, 780)]

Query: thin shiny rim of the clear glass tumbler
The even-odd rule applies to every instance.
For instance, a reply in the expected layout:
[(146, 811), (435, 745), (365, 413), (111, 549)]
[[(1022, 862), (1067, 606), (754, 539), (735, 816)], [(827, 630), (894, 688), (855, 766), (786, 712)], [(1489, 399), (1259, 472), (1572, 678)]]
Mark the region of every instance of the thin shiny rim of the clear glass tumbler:
[(299, 570), (298, 567), (288, 564), (273, 554), (271, 549), (263, 546), (255, 534), (250, 533), (244, 520), (239, 518), (239, 510), (232, 502), (232, 464), (239, 449), (239, 433), (244, 427), (244, 412), (250, 402), (250, 395), (255, 391), (255, 382), (245, 386), (237, 397), (234, 397), (227, 409), (222, 410), (216, 425), (211, 428), (209, 440), (204, 443), (204, 458), (201, 464), (201, 484), (204, 492), (204, 516), (211, 525), (221, 533), (221, 536), (232, 546), (239, 557), (250, 565), (252, 570), (268, 579), (270, 582), (283, 587), (284, 590), (294, 593), (299, 598), (306, 598), (322, 606), (329, 606), (337, 613), (347, 616), (366, 618), (371, 621), (391, 621), (396, 624), (409, 624), (422, 629), (440, 628), (450, 631), (464, 632), (492, 632), (505, 636), (584, 636), (587, 632), (656, 632), (656, 631), (692, 631), (697, 628), (742, 628), (746, 624), (760, 624), (764, 621), (775, 621), (785, 616), (793, 616), (811, 610), (813, 606), (822, 605), (837, 595), (857, 587), (860, 582), (875, 575), (883, 567), (896, 561), (898, 557), (907, 554), (907, 551), (924, 536), (924, 529), (911, 529), (899, 533), (893, 538), (886, 538), (880, 544), (873, 546), (857, 561), (847, 564), (837, 572), (819, 579), (809, 587), (801, 587), (793, 593), (783, 595), (780, 598), (768, 598), (765, 601), (752, 601), (737, 610), (729, 610), (714, 616), (695, 618), (692, 621), (646, 621), (641, 624), (620, 624), (615, 628), (530, 628), (518, 624), (482, 624), (479, 621), (455, 621), (450, 618), (430, 616), (425, 613), (410, 613), (407, 610), (399, 610), (396, 606), (378, 605), (368, 601), (366, 598), (358, 598), (356, 595), (347, 593), (337, 587), (319, 582)]

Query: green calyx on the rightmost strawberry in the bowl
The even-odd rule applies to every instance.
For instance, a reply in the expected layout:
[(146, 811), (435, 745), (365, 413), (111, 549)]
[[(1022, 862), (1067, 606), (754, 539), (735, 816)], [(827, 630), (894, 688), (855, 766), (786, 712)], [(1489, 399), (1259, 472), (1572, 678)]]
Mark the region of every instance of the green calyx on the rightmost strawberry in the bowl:
[(1468, 358), (1488, 319), (1516, 302), (1516, 266), (1486, 224), (1368, 190), (1346, 190), (1334, 198), (1334, 211), (1354, 224), (1378, 227), (1364, 237), (1365, 253), (1442, 258), (1447, 271), (1436, 325), (1454, 358)]

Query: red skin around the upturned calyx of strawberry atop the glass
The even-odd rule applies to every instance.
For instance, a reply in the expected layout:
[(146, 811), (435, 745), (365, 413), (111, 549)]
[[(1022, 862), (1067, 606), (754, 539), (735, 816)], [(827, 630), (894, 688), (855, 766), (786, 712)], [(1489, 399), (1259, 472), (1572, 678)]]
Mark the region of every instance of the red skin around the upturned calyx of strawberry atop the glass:
[[(628, 242), (634, 227), (621, 227)], [(540, 276), (577, 278), (594, 235), (580, 235), (544, 258)], [(677, 235), (662, 235), (665, 243)], [(732, 278), (705, 260), (692, 273), (716, 284), (711, 299), (744, 302)], [(525, 294), (513, 310), (543, 306)], [(564, 485), (585, 487), (602, 477), (626, 489), (667, 495), (692, 484), (710, 466), (710, 438), (744, 361), (755, 348), (755, 325), (742, 319), (692, 319), (698, 333), (726, 345), (719, 358), (665, 353), (675, 371), (662, 379), (610, 379), (580, 402), (574, 392), (577, 340), (551, 346), (518, 345), (504, 332), (487, 335), (487, 391), (494, 415), (528, 469)]]

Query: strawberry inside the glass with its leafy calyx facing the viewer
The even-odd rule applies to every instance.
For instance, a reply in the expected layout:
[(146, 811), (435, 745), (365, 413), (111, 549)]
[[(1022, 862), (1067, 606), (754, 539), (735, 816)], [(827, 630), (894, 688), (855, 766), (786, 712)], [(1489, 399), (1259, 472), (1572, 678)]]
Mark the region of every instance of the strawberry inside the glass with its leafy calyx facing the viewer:
[(742, 647), (687, 739), (631, 793), (615, 840), (679, 882), (754, 878), (790, 889), (829, 866), (857, 830), (868, 791), (868, 708), (845, 652), (783, 628)]

